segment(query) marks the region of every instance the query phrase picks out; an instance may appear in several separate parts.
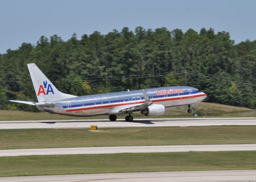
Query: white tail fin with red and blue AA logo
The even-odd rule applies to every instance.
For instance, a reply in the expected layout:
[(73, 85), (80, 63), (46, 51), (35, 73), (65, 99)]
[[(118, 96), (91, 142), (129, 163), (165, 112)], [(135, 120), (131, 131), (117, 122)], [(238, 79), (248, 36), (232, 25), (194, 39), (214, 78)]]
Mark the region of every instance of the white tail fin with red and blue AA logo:
[(38, 102), (55, 102), (76, 96), (60, 92), (36, 64), (28, 64), (28, 70), (34, 85)]

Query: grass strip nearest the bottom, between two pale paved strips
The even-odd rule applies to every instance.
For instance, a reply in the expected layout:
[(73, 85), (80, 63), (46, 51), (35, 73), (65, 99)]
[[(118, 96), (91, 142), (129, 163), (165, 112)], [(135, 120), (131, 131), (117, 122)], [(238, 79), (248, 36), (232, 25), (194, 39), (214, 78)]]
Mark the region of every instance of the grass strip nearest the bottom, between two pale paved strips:
[(256, 169), (255, 151), (1, 157), (0, 176)]

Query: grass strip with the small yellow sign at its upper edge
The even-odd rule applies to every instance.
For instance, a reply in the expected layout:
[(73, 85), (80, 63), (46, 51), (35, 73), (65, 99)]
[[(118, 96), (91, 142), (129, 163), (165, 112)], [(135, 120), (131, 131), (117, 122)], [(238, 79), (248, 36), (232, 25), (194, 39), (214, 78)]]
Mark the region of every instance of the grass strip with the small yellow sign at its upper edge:
[(256, 126), (0, 130), (0, 149), (256, 143)]

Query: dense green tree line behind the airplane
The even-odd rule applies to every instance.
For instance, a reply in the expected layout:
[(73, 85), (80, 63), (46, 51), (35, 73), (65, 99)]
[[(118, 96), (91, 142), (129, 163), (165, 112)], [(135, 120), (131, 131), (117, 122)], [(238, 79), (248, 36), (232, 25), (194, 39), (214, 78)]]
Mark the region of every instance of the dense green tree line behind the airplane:
[(226, 31), (202, 28), (106, 35), (41, 36), (0, 56), (0, 109), (35, 110), (8, 100), (37, 101), (27, 63), (36, 63), (61, 92), (77, 96), (187, 85), (208, 102), (256, 108), (256, 41), (234, 44)]

